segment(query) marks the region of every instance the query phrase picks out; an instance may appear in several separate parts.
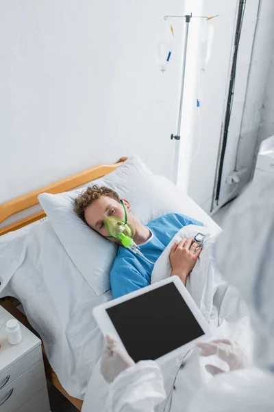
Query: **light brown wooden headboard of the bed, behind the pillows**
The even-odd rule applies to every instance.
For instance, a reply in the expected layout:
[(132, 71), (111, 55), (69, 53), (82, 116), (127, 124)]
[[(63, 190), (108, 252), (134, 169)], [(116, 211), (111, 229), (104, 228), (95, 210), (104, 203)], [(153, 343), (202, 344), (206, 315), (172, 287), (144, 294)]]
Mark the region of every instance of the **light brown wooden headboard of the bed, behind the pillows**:
[[(23, 211), (28, 209), (29, 207), (38, 205), (38, 195), (44, 192), (56, 194), (67, 192), (68, 190), (75, 189), (75, 187), (84, 185), (92, 180), (99, 179), (99, 177), (105, 176), (118, 168), (124, 161), (127, 160), (127, 157), (122, 157), (118, 163), (114, 163), (113, 165), (98, 165), (94, 168), (90, 168), (84, 170), (84, 172), (80, 172), (77, 174), (73, 174), (73, 176), (69, 176), (66, 179), (62, 179), (61, 181), (52, 183), (51, 185), (47, 185), (45, 187), (41, 187), (40, 189), (34, 190), (34, 192), (30, 192), (24, 194), (23, 196), (19, 196), (17, 198), (12, 199), (12, 201), (8, 201), (0, 205), (0, 224), (10, 216), (18, 213), (19, 211)], [(0, 229), (0, 236), (8, 233), (9, 231), (13, 231), (16, 229), (20, 229), (20, 227), (29, 225), (29, 223), (35, 222), (41, 218), (44, 218), (45, 212), (38, 211), (38, 213), (32, 214), (27, 216), (27, 218), (23, 218), (18, 220), (18, 222), (12, 223), (6, 227)]]

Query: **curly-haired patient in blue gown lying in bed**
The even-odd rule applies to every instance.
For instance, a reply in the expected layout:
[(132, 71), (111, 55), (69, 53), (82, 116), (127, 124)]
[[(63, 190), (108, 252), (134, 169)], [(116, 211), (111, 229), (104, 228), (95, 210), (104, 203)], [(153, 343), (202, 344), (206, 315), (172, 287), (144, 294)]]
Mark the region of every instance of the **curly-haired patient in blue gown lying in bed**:
[[(141, 255), (136, 255), (121, 246), (119, 240), (109, 238), (112, 242), (119, 242), (120, 246), (112, 271), (110, 284), (112, 295), (123, 296), (151, 283), (153, 266), (175, 236), (177, 231), (187, 225), (199, 225), (195, 219), (182, 214), (166, 214), (142, 225), (132, 214), (132, 207), (125, 199), (121, 200), (119, 194), (108, 187), (97, 185), (88, 187), (86, 192), (80, 194), (75, 200), (75, 213), (86, 222), (93, 230), (102, 236), (110, 236), (103, 221), (108, 216), (116, 216), (125, 220), (133, 231), (133, 239), (140, 247)], [(179, 244), (174, 244), (169, 256), (172, 275), (177, 275), (186, 283), (186, 277), (197, 262), (201, 249), (196, 251), (197, 244), (193, 239), (183, 239)]]

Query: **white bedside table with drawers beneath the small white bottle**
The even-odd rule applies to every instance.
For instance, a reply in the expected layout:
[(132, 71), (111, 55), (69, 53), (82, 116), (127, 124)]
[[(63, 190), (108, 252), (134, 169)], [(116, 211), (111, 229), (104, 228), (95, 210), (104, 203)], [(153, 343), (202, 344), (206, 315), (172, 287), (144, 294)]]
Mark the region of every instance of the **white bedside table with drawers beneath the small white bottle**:
[(5, 332), (10, 319), (0, 306), (0, 411), (50, 412), (41, 341), (20, 323), (22, 341), (10, 345)]

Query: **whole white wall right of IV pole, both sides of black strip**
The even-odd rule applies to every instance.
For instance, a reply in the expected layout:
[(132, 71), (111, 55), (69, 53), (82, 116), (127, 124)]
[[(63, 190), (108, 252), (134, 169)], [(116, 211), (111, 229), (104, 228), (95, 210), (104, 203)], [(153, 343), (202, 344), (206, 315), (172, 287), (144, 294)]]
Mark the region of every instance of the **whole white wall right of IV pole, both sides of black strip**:
[[(199, 2), (195, 2), (195, 5), (197, 5), (197, 3)], [(194, 7), (192, 7), (192, 9), (194, 9)], [(220, 14), (220, 16), (212, 20), (212, 24), (214, 24), (214, 43), (212, 47), (212, 57), (203, 79), (203, 98), (201, 99), (200, 108), (201, 144), (199, 152), (195, 159), (193, 159), (191, 163), (188, 163), (184, 144), (181, 145), (179, 179), (181, 179), (181, 185), (183, 187), (188, 186), (190, 196), (192, 196), (203, 209), (209, 212), (212, 207), (216, 207), (216, 202), (212, 205), (212, 195), (214, 194), (214, 179), (219, 144), (221, 137), (223, 137), (223, 122), (225, 119), (229, 76), (232, 66), (232, 50), (234, 47), (236, 17), (238, 14), (238, 0), (206, 0), (203, 1), (202, 11), (197, 10), (197, 13), (200, 12), (203, 16), (211, 16), (214, 14)], [(237, 190), (239, 191), (250, 179), (253, 170), (253, 159), (256, 154), (256, 141), (262, 122), (261, 115), (262, 111), (264, 111), (264, 106), (266, 106), (266, 101), (264, 102), (264, 91), (274, 38), (274, 1), (261, 0), (260, 18), (254, 43), (253, 59), (251, 61), (251, 48), (256, 28), (257, 12), (258, 0), (247, 1), (238, 51), (236, 85), (223, 165), (219, 203), (225, 201), (236, 186), (234, 184), (227, 185), (226, 178), (235, 168), (239, 136), (241, 139), (238, 168), (247, 168), (247, 171), (242, 175), (241, 184)], [(196, 36), (195, 41), (198, 43), (199, 35), (197, 36), (197, 32), (199, 31), (199, 22), (193, 20), (190, 27), (193, 31), (196, 30), (196, 33), (192, 34), (192, 36)], [(195, 47), (195, 43), (192, 47)], [(197, 67), (197, 56), (196, 52), (196, 54), (192, 56), (192, 61), (190, 61), (191, 59), (188, 60), (187, 82), (190, 82), (190, 79), (196, 76), (196, 69), (193, 70), (193, 68)], [(249, 67), (250, 76), (249, 84), (247, 84)], [(269, 74), (269, 76), (271, 76), (271, 74)], [(192, 107), (192, 128), (190, 128), (192, 152), (190, 158), (197, 153), (197, 147), (199, 146), (199, 125), (198, 122), (195, 124), (193, 115), (196, 111), (197, 82), (195, 92), (193, 92), (193, 89), (186, 95), (185, 102), (185, 105), (188, 106), (188, 108), (186, 108), (187, 113), (189, 107)], [(269, 88), (269, 90), (271, 89)], [(265, 109), (267, 112), (265, 113), (264, 119), (265, 128), (271, 128), (273, 125), (271, 124), (271, 110), (274, 102), (271, 99), (271, 91), (268, 93), (268, 99), (271, 100), (272, 103), (268, 101), (267, 106), (269, 106), (269, 108)], [(188, 114), (188, 117), (189, 116)], [(184, 135), (184, 125), (188, 123), (189, 120), (184, 119), (183, 115), (182, 135)], [(262, 132), (262, 135), (266, 135), (267, 133)], [(188, 136), (186, 136), (185, 139), (188, 139)]]

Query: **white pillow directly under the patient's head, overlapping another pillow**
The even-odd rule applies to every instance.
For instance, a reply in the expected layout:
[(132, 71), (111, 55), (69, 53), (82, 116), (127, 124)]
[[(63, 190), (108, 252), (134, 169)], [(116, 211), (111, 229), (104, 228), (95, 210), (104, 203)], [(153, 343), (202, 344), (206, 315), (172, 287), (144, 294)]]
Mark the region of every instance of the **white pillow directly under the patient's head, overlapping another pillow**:
[[(38, 196), (64, 249), (97, 295), (110, 289), (108, 274), (116, 257), (116, 244), (93, 231), (73, 211), (74, 200), (84, 189)], [(107, 274), (107, 275), (106, 275)]]

